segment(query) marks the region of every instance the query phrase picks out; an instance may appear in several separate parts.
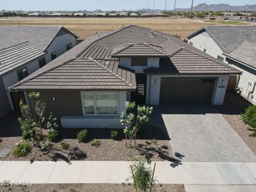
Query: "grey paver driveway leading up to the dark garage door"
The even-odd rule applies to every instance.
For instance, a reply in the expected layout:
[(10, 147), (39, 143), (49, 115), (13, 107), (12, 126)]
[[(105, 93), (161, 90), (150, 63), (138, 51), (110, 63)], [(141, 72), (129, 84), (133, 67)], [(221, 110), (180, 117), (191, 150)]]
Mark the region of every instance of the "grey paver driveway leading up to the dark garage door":
[(169, 134), (182, 161), (256, 162), (256, 156), (211, 104), (154, 107), (150, 123)]

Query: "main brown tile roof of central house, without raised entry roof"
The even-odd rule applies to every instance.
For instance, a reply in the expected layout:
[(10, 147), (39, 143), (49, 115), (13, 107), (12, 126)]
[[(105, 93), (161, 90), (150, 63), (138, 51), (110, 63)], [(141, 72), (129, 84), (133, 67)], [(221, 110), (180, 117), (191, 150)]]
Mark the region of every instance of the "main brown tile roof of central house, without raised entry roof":
[[(178, 68), (179, 65), (187, 65), (187, 68), (191, 69), (189, 73), (194, 71), (195, 74), (213, 74), (215, 72), (218, 72), (218, 74), (241, 74), (178, 38), (131, 25), (86, 39), (10, 88), (13, 90), (26, 90), (31, 89), (31, 87), (33, 89), (134, 90), (136, 87), (134, 72), (131, 69), (119, 66), (117, 58), (111, 56), (117, 46), (126, 47), (127, 44), (149, 45), (150, 51), (154, 47), (154, 52), (157, 50), (160, 54), (163, 53), (167, 56), (167, 60), (173, 60), (174, 65), (177, 65)], [(186, 54), (182, 55), (183, 50), (186, 51)], [(193, 63), (191, 63), (191, 60), (193, 60)], [(97, 62), (103, 66), (103, 69), (102, 66), (97, 65)], [(202, 65), (196, 65), (196, 63)], [(212, 66), (205, 69), (205, 65)], [(100, 73), (98, 73), (99, 69), (101, 70)], [(102, 78), (102, 73), (107, 73), (103, 70), (113, 71), (115, 75), (110, 75), (111, 79), (112, 77), (116, 79), (108, 81), (108, 78)], [(56, 73), (57, 71), (58, 73)], [(178, 70), (176, 74), (183, 74), (186, 72), (184, 71)], [(151, 73), (153, 72), (151, 71)], [(107, 74), (109, 74), (109, 71)], [(47, 78), (42, 78), (43, 76)], [(47, 81), (47, 85), (45, 81)], [(74, 83), (75, 81), (79, 83)], [(95, 84), (95, 81), (97, 84)]]

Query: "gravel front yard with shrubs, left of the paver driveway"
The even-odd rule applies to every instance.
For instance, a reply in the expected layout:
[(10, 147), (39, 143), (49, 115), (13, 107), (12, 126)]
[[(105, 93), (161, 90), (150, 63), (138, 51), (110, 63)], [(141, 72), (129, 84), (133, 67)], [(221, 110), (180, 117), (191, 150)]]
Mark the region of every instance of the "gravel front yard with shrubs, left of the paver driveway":
[[(20, 125), (17, 121), (19, 114), (11, 112), (0, 119), (0, 151), (5, 148), (14, 149), (21, 138)], [(158, 127), (145, 125), (137, 134), (137, 146), (125, 147), (123, 130), (118, 130), (118, 140), (110, 139), (110, 129), (88, 129), (89, 139), (86, 143), (78, 143), (77, 133), (81, 129), (59, 128), (59, 141), (53, 142), (50, 151), (41, 151), (33, 147), (25, 157), (15, 158), (11, 153), (5, 161), (177, 161), (172, 157), (169, 138)], [(148, 130), (148, 131), (146, 131)], [(152, 139), (156, 140), (152, 140)], [(91, 146), (93, 139), (100, 140), (100, 146)], [(69, 144), (69, 149), (61, 148), (60, 143)], [(133, 142), (132, 142), (133, 145)], [(127, 146), (130, 141), (127, 140)]]

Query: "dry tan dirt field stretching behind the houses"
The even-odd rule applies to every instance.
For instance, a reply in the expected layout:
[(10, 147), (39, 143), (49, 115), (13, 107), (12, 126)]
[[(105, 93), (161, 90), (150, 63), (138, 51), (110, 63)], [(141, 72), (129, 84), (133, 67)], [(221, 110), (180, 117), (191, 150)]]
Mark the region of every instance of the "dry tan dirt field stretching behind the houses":
[(170, 19), (170, 18), (0, 18), (0, 25), (47, 25), (64, 26), (85, 39), (97, 33), (121, 28), (122, 25), (140, 25), (166, 34), (178, 34), (182, 39), (206, 25), (203, 20)]

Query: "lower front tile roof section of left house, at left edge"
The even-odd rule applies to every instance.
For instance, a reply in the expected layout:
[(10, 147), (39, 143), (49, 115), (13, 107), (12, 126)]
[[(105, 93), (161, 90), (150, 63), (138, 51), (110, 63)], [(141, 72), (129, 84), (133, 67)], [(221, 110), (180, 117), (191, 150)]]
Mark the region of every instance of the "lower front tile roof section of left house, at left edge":
[(43, 53), (31, 43), (24, 42), (0, 50), (0, 75), (42, 57)]

